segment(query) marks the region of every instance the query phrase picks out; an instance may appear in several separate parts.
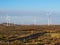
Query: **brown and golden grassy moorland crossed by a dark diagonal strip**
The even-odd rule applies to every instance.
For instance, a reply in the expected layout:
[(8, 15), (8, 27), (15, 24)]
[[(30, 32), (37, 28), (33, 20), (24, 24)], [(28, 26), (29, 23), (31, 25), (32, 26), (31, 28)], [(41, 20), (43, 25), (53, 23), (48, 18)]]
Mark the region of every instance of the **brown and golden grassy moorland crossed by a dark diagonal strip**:
[(60, 45), (60, 25), (0, 24), (0, 45)]

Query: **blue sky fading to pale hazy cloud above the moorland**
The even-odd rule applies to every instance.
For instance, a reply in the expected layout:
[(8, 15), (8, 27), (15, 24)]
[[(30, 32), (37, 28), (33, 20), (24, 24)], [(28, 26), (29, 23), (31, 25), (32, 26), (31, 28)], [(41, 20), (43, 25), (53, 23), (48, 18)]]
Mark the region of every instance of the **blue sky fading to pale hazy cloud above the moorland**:
[(0, 0), (0, 23), (48, 24), (48, 15), (60, 24), (60, 0)]

